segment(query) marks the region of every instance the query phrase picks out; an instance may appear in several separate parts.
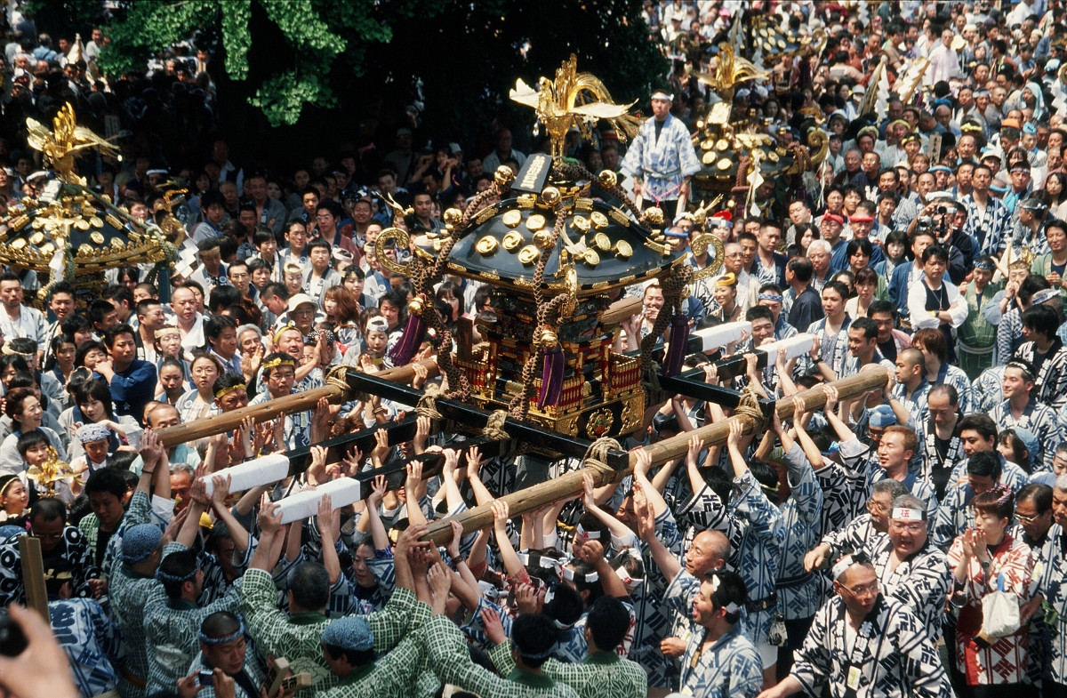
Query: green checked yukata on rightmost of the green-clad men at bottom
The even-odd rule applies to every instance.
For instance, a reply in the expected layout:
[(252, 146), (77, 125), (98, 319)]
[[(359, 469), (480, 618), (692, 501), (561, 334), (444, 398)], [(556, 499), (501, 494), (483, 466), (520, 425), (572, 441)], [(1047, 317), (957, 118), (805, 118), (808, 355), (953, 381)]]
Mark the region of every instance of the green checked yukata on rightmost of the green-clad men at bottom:
[[(494, 647), (489, 657), (500, 676), (515, 670), (510, 643)], [(619, 659), (615, 652), (593, 652), (577, 664), (550, 659), (541, 665), (541, 673), (571, 686), (580, 698), (644, 698), (649, 693), (649, 678), (641, 665)]]

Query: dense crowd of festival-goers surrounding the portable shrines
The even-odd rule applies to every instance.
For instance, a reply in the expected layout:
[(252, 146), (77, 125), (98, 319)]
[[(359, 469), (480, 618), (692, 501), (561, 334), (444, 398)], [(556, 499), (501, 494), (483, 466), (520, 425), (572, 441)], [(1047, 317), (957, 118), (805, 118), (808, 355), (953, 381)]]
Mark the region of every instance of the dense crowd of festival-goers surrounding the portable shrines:
[[(731, 113), (782, 147), (814, 124), (828, 154), (803, 176), (755, 185), (739, 210), (695, 216), (690, 134), (721, 100), (697, 74), (736, 41), (744, 11), (827, 41), (737, 90)], [(391, 444), (414, 406), (373, 395), (188, 443), (158, 431), (321, 386), (334, 366), (392, 367), (415, 291), (387, 264), (411, 250), (382, 245), (383, 264), (379, 236), (432, 236), (444, 210), (493, 190), (498, 168), (519, 172), (516, 143), (540, 153), (547, 141), (500, 128), (480, 153), (428, 143), (412, 123), (384, 156), (352, 143), (288, 170), (245, 161), (214, 126), (210, 51), (182, 43), (106, 82), (106, 27), (71, 52), (73, 37), (53, 47), (9, 7), (5, 210), (48, 179), (21, 120), (50, 122), (67, 101), (83, 125), (122, 127), (121, 157), (78, 161), (96, 191), (146, 222), (168, 215), (176, 184), (189, 192), (173, 207), (187, 236), (162, 277), (112, 270), (89, 302), (61, 282), (38, 310), (47, 280), (0, 273), (0, 688), (1067, 696), (1063, 3), (679, 0), (646, 2), (644, 15), (673, 60), (652, 116), (630, 144), (570, 136), (567, 157), (662, 206), (692, 267), (714, 249), (689, 243), (720, 238), (721, 269), (690, 285), (680, 313), (694, 328), (750, 331), (685, 365), (708, 384), (793, 398), (793, 415), (754, 434), (734, 419), (724, 443), (695, 435), (684, 457), (653, 464), (644, 446), (733, 414), (667, 396), (624, 440), (632, 475), (603, 487), (587, 476), (575, 497), (511, 512), (503, 497), (528, 480), (528, 457), (482, 458), (428, 416)], [(917, 64), (915, 90), (893, 91)], [(865, 109), (887, 80), (885, 112)], [(598, 186), (590, 195), (607, 197)], [(653, 331), (665, 290), (626, 289), (642, 304), (619, 350)], [(444, 327), (477, 334), (493, 332), (499, 298), (447, 275), (432, 302)], [(760, 365), (758, 348), (799, 334), (812, 337), (805, 355)], [(437, 349), (427, 342), (416, 359)], [(744, 376), (718, 375), (714, 360), (730, 355), (746, 358)], [(840, 379), (879, 367), (883, 387), (839, 394)], [(442, 381), (413, 370), (415, 387)], [(824, 407), (796, 398), (810, 388)], [(368, 454), (327, 462), (323, 441), (376, 427)], [(293, 477), (232, 491), (218, 475), (302, 447), (310, 465)], [(431, 451), (444, 465), (424, 478), (412, 458)], [(42, 477), (58, 467), (69, 473)], [(314, 515), (283, 523), (286, 496), (391, 467), (407, 471), (401, 487), (379, 476), (361, 502), (322, 496)], [(478, 505), (492, 508), (487, 528), (453, 521), (447, 544), (424, 540), (428, 524)], [(39, 540), (50, 628), (21, 608), (26, 534)]]

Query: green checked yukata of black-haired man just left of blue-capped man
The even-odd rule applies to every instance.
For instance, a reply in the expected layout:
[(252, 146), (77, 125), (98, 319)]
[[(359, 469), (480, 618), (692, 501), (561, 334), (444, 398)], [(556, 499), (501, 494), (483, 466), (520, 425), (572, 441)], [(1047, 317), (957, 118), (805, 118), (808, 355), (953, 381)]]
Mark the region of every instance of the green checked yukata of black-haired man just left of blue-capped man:
[[(312, 675), (310, 688), (297, 693), (298, 698), (309, 698), (316, 691), (337, 685), (338, 679), (322, 659), (322, 633), (330, 619), (319, 613), (290, 614), (277, 609), (277, 589), (270, 574), (260, 569), (250, 569), (240, 585), (240, 608), (249, 634), (264, 655), (273, 654), (289, 660), (296, 673)], [(367, 616), (375, 634), (375, 652), (381, 654), (393, 649), (407, 632), (409, 622), (421, 622), (415, 617), (415, 594), (398, 588), (385, 608)], [(425, 604), (424, 604), (425, 605)]]

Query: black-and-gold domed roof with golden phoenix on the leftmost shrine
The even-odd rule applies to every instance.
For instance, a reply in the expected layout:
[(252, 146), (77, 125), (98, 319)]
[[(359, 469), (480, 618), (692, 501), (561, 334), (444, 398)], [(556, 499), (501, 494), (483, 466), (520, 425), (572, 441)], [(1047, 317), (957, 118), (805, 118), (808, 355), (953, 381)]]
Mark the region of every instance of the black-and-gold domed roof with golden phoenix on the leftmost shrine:
[[(38, 291), (47, 298), (55, 283), (66, 279), (82, 295), (101, 288), (107, 269), (134, 264), (171, 263), (174, 244), (184, 231), (172, 231), (169, 242), (155, 223), (142, 223), (107, 196), (85, 185), (75, 172), (75, 157), (98, 148), (113, 154), (115, 147), (91, 130), (78, 126), (74, 109), (65, 105), (53, 120), (52, 130), (27, 120), (31, 147), (39, 150), (53, 178), (37, 200), (23, 199), (0, 221), (0, 264), (47, 274), (49, 282)], [(176, 221), (164, 220), (168, 227)]]

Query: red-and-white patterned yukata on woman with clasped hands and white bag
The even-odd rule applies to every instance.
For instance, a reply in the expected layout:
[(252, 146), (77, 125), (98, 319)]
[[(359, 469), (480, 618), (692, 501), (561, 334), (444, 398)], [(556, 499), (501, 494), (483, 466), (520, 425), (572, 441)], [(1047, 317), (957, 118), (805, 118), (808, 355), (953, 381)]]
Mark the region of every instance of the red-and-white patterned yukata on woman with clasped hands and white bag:
[[(962, 540), (957, 538), (949, 549), (949, 565), (956, 569), (962, 556)], [(1004, 540), (991, 551), (990, 562), (992, 580), (1003, 575), (1005, 591), (1030, 599), (1034, 567), (1025, 543), (1005, 534)], [(997, 638), (987, 648), (974, 643), (974, 634), (982, 629), (982, 598), (990, 591), (990, 586), (996, 589), (996, 582), (986, 583), (978, 558), (972, 557), (967, 568), (967, 582), (959, 592), (965, 604), (956, 623), (956, 667), (969, 686), (1020, 683), (1026, 676), (1030, 636), (1025, 623), (1014, 635)]]

